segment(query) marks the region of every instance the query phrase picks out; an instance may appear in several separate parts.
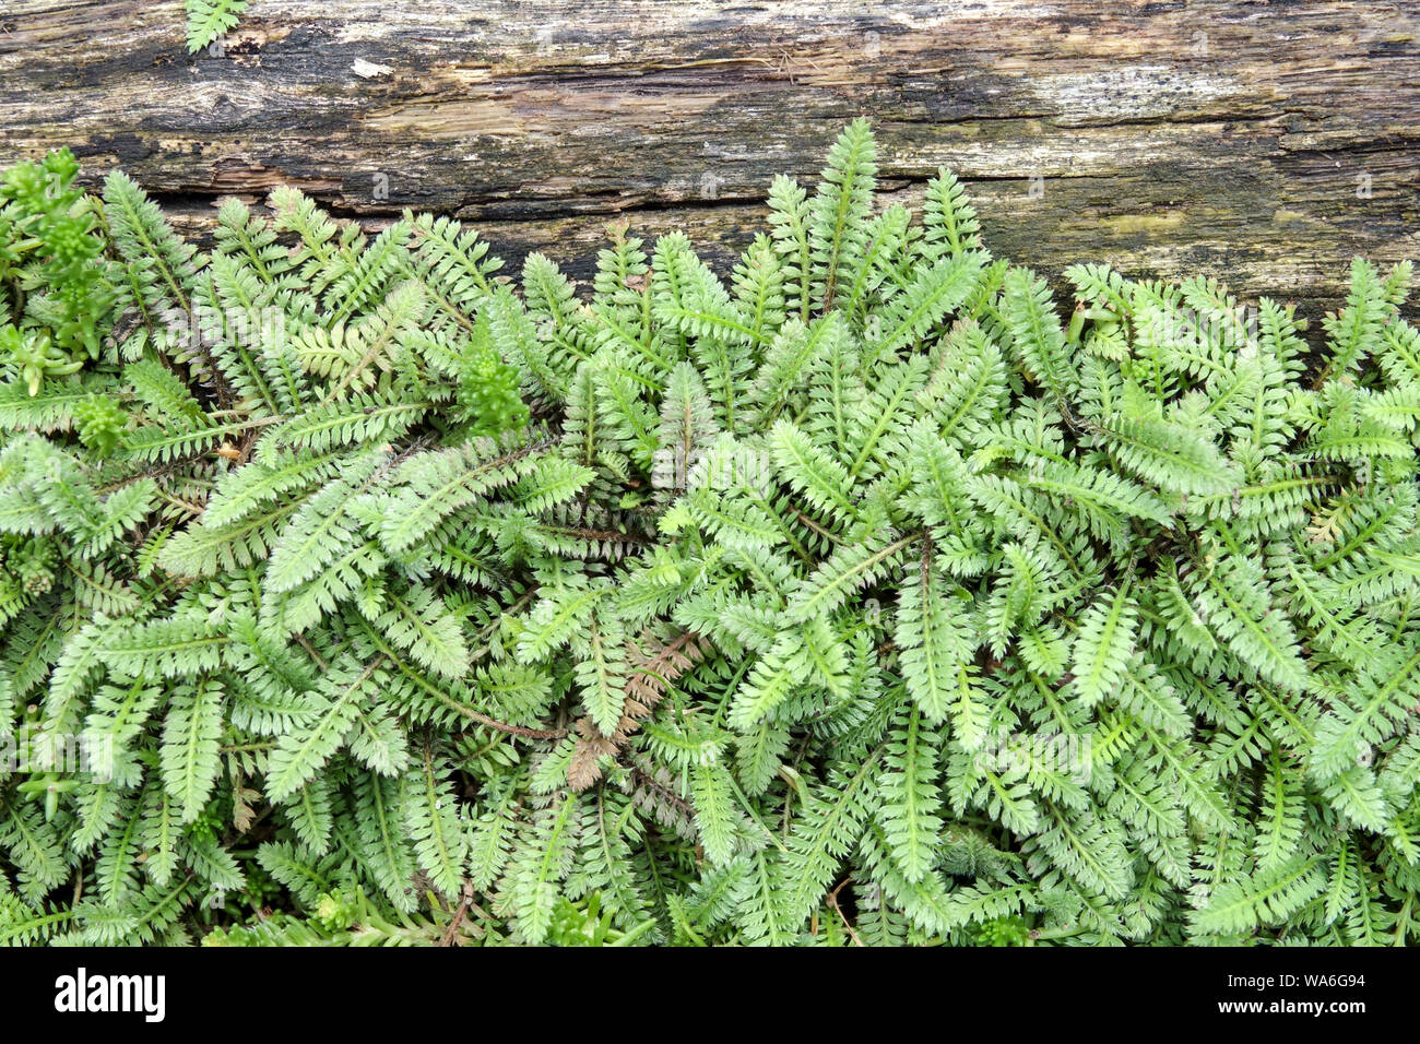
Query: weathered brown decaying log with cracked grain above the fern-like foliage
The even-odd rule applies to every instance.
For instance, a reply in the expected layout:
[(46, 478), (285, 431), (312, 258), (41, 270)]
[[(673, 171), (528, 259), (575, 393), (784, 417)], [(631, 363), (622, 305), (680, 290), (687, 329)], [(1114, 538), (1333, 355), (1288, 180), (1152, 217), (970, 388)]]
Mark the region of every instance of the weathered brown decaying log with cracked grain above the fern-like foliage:
[(889, 197), (939, 165), (998, 254), (1203, 270), (1333, 307), (1420, 254), (1420, 4), (3, 0), (0, 162), (71, 145), (193, 227), (288, 182), (372, 224), (453, 213), (585, 274), (611, 219), (726, 261), (770, 179), (868, 114)]

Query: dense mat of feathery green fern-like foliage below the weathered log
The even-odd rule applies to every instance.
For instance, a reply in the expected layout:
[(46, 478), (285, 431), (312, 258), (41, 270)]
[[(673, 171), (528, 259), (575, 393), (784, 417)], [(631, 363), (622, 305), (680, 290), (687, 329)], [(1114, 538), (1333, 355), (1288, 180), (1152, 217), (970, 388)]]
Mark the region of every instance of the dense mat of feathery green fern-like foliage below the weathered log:
[(866, 122), (721, 280), (0, 187), (0, 939), (1406, 945), (1420, 334), (993, 259)]

